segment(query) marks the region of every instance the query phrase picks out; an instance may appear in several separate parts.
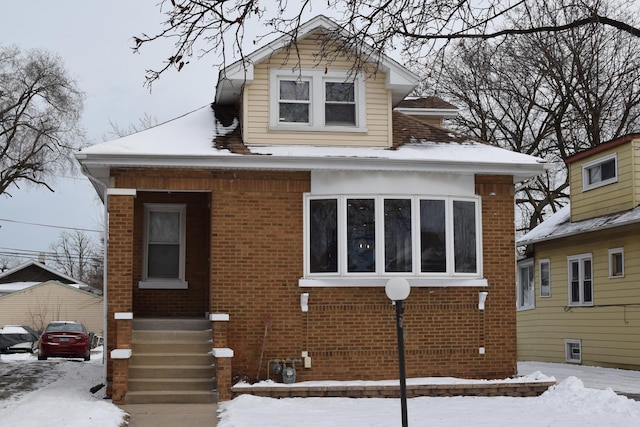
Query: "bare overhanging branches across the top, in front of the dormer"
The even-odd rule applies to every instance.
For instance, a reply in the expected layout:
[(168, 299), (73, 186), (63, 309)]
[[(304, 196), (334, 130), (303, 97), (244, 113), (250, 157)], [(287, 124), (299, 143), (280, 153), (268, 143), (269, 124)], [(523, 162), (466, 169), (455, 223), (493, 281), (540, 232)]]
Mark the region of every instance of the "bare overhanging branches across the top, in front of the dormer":
[[(482, 2), (445, 0), (161, 0), (165, 20), (161, 31), (134, 37), (134, 51), (160, 39), (171, 39), (173, 49), (164, 64), (147, 70), (151, 85), (168, 69), (180, 71), (194, 56), (217, 55), (218, 65), (228, 58), (245, 59), (247, 44), (260, 43), (265, 37), (287, 35), (295, 39), (306, 16), (325, 13), (335, 18), (339, 27), (348, 30), (339, 44), (324, 46), (318, 57), (331, 57), (336, 46), (355, 52), (355, 59), (369, 61), (397, 47), (405, 58), (422, 62), (434, 50), (452, 40), (500, 38), (507, 36), (557, 33), (586, 25), (599, 25), (640, 36), (640, 28), (626, 17), (608, 15), (607, 0), (578, 0), (571, 4), (577, 12), (571, 19), (558, 22), (506, 22), (506, 14), (528, 10), (547, 0), (509, 0)], [(320, 9), (316, 9), (316, 7)], [(557, 15), (563, 6), (555, 7)], [(633, 1), (626, 2), (628, 15), (637, 13)], [(526, 15), (523, 15), (526, 16)], [(264, 30), (256, 30), (264, 29)], [(257, 32), (256, 32), (257, 31)], [(340, 36), (336, 31), (336, 36)], [(245, 40), (247, 38), (248, 40)], [(367, 47), (368, 46), (368, 47)], [(371, 51), (369, 47), (373, 48)], [(361, 63), (360, 65), (362, 65)]]

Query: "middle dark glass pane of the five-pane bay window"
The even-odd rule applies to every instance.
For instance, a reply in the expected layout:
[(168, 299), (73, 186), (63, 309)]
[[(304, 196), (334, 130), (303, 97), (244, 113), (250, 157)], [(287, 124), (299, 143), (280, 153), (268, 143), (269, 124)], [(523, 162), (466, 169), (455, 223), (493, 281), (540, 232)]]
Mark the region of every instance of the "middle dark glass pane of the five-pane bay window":
[(384, 265), (387, 272), (411, 272), (411, 200), (384, 201)]

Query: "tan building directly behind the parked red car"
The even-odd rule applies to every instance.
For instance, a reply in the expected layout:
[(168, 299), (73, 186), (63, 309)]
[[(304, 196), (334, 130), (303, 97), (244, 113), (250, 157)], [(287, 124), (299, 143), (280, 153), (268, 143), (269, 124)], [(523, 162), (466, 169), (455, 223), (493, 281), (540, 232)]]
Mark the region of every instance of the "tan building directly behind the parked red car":
[(0, 325), (27, 325), (42, 331), (51, 321), (71, 320), (102, 335), (103, 313), (101, 296), (54, 280), (0, 294)]

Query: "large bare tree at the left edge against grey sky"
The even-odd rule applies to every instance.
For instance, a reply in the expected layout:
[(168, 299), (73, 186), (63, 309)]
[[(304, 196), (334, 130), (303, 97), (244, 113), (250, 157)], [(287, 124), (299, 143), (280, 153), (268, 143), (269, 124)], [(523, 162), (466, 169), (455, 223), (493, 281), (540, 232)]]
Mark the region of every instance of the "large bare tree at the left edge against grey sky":
[(75, 167), (83, 101), (59, 57), (0, 46), (0, 195)]

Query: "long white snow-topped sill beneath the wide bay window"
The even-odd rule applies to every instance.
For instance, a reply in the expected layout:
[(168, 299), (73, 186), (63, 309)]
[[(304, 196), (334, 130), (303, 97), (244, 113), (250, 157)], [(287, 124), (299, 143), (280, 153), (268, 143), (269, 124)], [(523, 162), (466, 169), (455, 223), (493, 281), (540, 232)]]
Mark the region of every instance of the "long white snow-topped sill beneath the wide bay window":
[[(298, 286), (301, 288), (330, 288), (330, 287), (384, 287), (391, 277), (318, 277), (301, 278)], [(405, 277), (409, 285), (414, 288), (429, 287), (487, 287), (487, 279), (484, 278), (426, 278), (426, 277)]]

